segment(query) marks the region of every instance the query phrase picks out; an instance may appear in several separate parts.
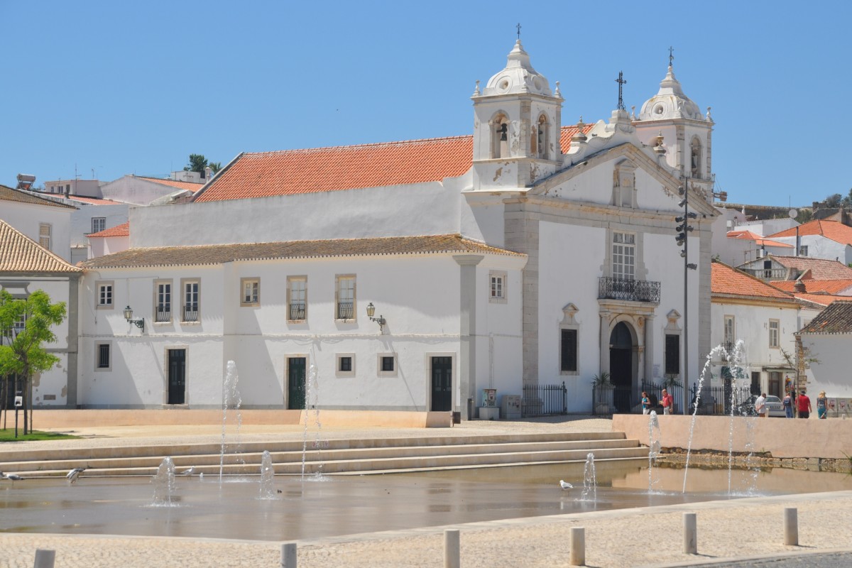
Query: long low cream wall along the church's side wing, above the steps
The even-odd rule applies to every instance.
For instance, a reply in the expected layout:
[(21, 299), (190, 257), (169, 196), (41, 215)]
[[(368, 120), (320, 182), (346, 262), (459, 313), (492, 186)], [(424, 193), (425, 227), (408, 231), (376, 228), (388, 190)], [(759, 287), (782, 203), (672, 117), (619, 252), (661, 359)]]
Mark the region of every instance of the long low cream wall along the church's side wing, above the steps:
[[(233, 412), (233, 410), (228, 410)], [(243, 424), (313, 424), (308, 410), (240, 410)], [(320, 410), (322, 424), (330, 427), (429, 428), (452, 426), (450, 412), (373, 412), (366, 410)], [(35, 429), (94, 426), (169, 426), (221, 424), (222, 410), (62, 410), (40, 409), (32, 417)], [(23, 422), (21, 422), (23, 425)]]

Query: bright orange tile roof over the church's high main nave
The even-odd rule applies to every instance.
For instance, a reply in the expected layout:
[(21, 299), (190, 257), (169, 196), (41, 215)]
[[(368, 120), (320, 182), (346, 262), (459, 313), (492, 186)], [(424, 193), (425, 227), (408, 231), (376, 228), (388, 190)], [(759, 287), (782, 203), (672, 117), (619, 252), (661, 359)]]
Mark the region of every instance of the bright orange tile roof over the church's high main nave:
[[(586, 125), (586, 131), (593, 124)], [(567, 152), (577, 127), (561, 129)], [(193, 201), (262, 198), (442, 181), (466, 173), (473, 136), (239, 155)]]

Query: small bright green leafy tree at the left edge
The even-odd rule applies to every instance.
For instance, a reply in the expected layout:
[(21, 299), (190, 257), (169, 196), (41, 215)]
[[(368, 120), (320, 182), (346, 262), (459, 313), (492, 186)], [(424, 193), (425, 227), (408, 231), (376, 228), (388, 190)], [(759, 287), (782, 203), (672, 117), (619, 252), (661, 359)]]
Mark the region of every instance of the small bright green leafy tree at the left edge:
[(32, 412), (32, 376), (50, 370), (60, 359), (47, 352), (44, 343), (56, 341), (51, 330), (65, 320), (64, 301), (50, 303), (44, 290), (16, 299), (0, 290), (0, 376), (14, 376), (23, 395), (24, 433)]

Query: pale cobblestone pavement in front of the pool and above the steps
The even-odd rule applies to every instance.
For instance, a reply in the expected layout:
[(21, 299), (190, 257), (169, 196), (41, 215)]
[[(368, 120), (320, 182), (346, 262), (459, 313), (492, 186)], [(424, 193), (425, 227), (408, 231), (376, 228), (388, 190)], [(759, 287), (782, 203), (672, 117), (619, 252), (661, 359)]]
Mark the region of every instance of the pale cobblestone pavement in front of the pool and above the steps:
[[(302, 435), (298, 430), (246, 432), (252, 436), (281, 437)], [(583, 428), (592, 428), (591, 430)], [(92, 436), (69, 440), (66, 444), (122, 445), (128, 438), (135, 443), (173, 443), (203, 441), (215, 436), (212, 430), (180, 427), (87, 428), (80, 433)], [(602, 419), (562, 420), (561, 422), (466, 422), (461, 427), (442, 428), (441, 435), (463, 433), (537, 432), (609, 430)], [(357, 435), (400, 436), (408, 431), (336, 429), (324, 433), (331, 437)], [(423, 435), (423, 430), (414, 431)], [(427, 432), (429, 433), (429, 432)], [(61, 442), (38, 442), (55, 444)], [(0, 496), (2, 499), (2, 496)], [(783, 544), (784, 508), (797, 508), (799, 543)], [(698, 528), (696, 556), (682, 553), (683, 513), (694, 512)], [(14, 514), (4, 510), (3, 514)], [(299, 568), (440, 568), (443, 559), (443, 531), (458, 529), (463, 568), (552, 568), (566, 566), (570, 558), (572, 527), (584, 527), (586, 565), (617, 566), (812, 566), (835, 568), (849, 565), (852, 555), (852, 478), (850, 491), (811, 493), (794, 496), (765, 496), (731, 501), (689, 503), (653, 508), (620, 509), (505, 519), (467, 525), (429, 527), (410, 531), (337, 536), (298, 541)], [(0, 534), (0, 568), (30, 568), (37, 548), (56, 550), (56, 568), (276, 568), (280, 565), (281, 542), (245, 542), (174, 537), (74, 536), (45, 534)], [(812, 552), (826, 554), (800, 553)], [(841, 554), (842, 552), (842, 554)], [(828, 554), (831, 553), (831, 554)], [(795, 554), (795, 556), (790, 556)], [(769, 557), (787, 557), (770, 559)], [(747, 558), (746, 558), (747, 557)], [(756, 558), (762, 557), (762, 558)], [(787, 564), (773, 564), (786, 562)], [(838, 564), (839, 562), (839, 564)], [(763, 563), (763, 564), (761, 564)]]

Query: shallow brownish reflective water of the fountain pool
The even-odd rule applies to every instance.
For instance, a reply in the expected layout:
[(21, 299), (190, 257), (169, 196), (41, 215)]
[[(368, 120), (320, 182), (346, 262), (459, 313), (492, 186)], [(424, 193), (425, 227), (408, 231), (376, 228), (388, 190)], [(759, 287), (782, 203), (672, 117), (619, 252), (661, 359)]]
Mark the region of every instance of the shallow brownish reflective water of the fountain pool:
[[(178, 508), (149, 507), (145, 478), (88, 477), (73, 487), (64, 479), (30, 479), (0, 489), (0, 531), (281, 541), (729, 498), (727, 468), (694, 465), (686, 494), (682, 469), (655, 468), (659, 485), (649, 495), (647, 463), (596, 461), (596, 503), (558, 484), (581, 485), (584, 463), (334, 476), (319, 484), (275, 476), (275, 491), (282, 491), (275, 500), (256, 498), (256, 476), (224, 485), (215, 477), (181, 478), (174, 488)], [(762, 495), (849, 489), (852, 477), (843, 473), (776, 468), (761, 470), (757, 479)]]

